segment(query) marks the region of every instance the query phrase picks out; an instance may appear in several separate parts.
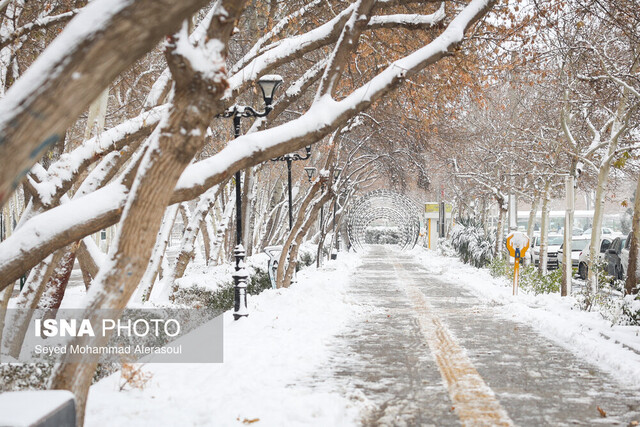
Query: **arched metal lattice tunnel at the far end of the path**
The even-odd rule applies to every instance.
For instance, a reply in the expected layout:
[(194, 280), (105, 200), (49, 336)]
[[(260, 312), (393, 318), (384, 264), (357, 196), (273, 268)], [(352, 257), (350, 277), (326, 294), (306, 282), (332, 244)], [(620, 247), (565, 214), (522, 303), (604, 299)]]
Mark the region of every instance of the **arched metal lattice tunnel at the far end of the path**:
[(420, 236), (420, 210), (408, 197), (389, 190), (375, 190), (359, 198), (349, 209), (347, 232), (352, 247), (360, 251), (366, 243), (367, 229), (386, 221), (397, 228), (398, 246), (412, 249)]

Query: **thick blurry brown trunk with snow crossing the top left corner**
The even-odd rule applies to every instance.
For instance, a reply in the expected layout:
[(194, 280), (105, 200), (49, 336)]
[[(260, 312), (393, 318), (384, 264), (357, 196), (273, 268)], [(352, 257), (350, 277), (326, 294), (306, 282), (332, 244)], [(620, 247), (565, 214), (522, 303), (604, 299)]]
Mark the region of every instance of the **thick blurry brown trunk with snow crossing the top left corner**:
[(122, 71), (208, 0), (94, 0), (0, 100), (0, 204)]

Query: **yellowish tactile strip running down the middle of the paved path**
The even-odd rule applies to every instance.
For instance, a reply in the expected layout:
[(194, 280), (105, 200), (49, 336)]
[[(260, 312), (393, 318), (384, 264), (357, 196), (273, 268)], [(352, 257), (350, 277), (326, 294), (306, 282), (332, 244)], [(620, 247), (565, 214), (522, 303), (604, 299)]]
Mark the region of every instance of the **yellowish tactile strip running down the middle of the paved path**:
[(484, 382), (447, 327), (440, 322), (422, 291), (411, 283), (411, 278), (404, 274), (398, 263), (394, 263), (394, 269), (418, 315), (422, 335), (447, 384), (449, 397), (462, 425), (513, 426), (513, 421), (493, 390)]

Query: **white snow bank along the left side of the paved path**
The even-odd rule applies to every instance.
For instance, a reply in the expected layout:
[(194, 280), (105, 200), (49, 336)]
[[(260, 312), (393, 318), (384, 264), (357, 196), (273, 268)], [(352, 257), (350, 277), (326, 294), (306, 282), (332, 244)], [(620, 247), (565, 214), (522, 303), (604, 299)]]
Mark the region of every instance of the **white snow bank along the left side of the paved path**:
[[(289, 289), (249, 300), (250, 316), (224, 317), (222, 364), (149, 364), (143, 390), (119, 392), (116, 373), (91, 388), (87, 426), (353, 425), (355, 403), (305, 385), (327, 362), (328, 343), (360, 310), (346, 291), (358, 257), (306, 269)], [(108, 420), (108, 421), (107, 421)]]

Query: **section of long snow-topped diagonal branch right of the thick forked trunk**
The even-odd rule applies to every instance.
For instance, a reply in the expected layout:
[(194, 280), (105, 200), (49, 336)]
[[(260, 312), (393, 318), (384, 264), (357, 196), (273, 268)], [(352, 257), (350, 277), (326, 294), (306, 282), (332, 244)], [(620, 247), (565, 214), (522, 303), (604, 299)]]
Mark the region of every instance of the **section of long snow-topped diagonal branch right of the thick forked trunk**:
[(407, 76), (418, 73), (445, 56), (463, 40), (465, 29), (483, 16), (493, 3), (492, 0), (471, 1), (431, 43), (393, 62), (343, 100), (335, 101), (330, 96), (323, 96), (298, 119), (241, 136), (213, 157), (190, 165), (178, 181), (177, 194), (174, 196), (177, 199), (193, 199), (236, 170), (319, 141), (364, 111)]

